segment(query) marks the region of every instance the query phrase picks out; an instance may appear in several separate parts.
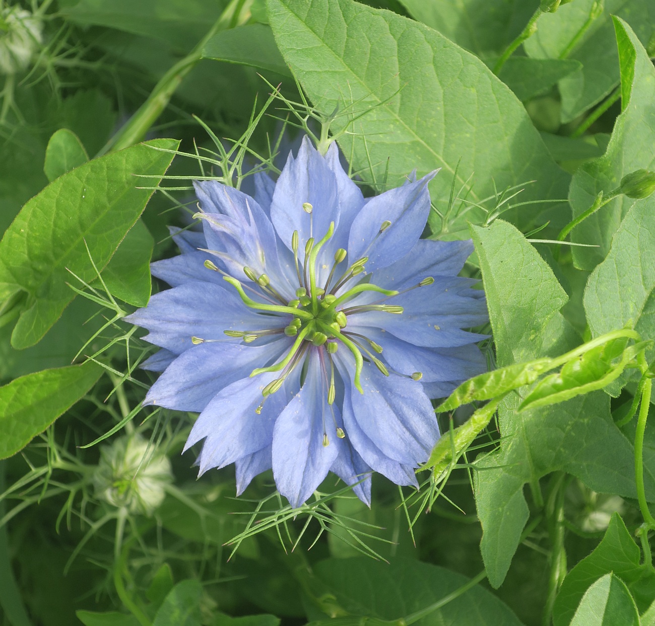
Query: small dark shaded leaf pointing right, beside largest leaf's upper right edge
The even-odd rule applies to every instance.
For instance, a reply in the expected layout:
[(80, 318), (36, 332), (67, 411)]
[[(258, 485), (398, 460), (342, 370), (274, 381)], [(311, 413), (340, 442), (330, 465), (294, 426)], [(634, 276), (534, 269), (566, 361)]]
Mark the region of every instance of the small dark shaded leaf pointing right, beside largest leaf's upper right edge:
[(582, 65), (567, 59), (531, 59), (527, 56), (509, 58), (502, 66), (498, 78), (521, 101), (548, 91), (558, 80), (578, 71)]

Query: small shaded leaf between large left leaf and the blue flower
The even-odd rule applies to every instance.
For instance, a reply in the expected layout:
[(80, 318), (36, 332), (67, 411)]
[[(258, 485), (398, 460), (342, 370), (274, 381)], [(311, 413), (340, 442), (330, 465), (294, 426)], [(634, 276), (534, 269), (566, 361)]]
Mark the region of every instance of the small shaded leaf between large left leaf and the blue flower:
[(137, 220), (102, 272), (102, 279), (113, 296), (136, 307), (148, 304), (153, 247), (153, 235), (142, 220)]

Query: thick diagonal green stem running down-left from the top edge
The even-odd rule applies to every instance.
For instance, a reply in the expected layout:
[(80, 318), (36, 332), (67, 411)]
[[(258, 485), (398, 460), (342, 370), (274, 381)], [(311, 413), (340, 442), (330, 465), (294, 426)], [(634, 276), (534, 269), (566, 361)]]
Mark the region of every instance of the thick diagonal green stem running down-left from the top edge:
[(102, 156), (110, 150), (127, 148), (143, 139), (145, 133), (155, 123), (186, 75), (202, 58), (205, 44), (219, 31), (236, 26), (246, 0), (232, 0), (221, 16), (216, 20), (207, 34), (198, 42), (185, 58), (179, 60), (157, 82), (151, 94), (126, 124), (119, 130), (96, 156)]

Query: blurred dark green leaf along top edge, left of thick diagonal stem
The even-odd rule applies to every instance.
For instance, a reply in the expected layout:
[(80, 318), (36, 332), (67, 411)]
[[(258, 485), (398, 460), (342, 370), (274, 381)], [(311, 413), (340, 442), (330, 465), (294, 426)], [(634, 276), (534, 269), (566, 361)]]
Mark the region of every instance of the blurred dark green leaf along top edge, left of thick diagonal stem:
[(81, 0), (62, 13), (83, 26), (106, 26), (191, 49), (227, 3), (217, 0)]

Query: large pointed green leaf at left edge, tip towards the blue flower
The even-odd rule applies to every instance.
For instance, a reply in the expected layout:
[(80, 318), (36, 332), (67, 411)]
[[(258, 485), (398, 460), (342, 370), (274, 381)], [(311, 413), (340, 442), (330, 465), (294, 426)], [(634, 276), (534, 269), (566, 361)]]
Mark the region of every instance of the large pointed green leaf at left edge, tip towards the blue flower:
[[(102, 270), (141, 215), (178, 142), (156, 139), (90, 161), (50, 183), (28, 201), (0, 241), (0, 301), (20, 291), (27, 303), (12, 333), (12, 345), (34, 345), (75, 296), (71, 271), (95, 278), (85, 243)], [(45, 217), (45, 218), (44, 218)]]

